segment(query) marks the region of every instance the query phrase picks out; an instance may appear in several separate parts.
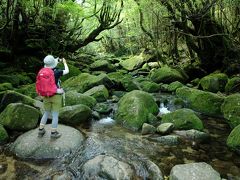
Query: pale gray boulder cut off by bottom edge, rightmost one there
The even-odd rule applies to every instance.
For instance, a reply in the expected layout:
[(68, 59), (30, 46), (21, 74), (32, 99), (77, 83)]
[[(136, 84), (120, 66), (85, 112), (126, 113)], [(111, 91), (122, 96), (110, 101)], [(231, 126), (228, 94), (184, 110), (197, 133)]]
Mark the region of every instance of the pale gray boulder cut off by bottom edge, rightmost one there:
[(220, 174), (205, 162), (179, 164), (172, 168), (170, 180), (221, 180)]

